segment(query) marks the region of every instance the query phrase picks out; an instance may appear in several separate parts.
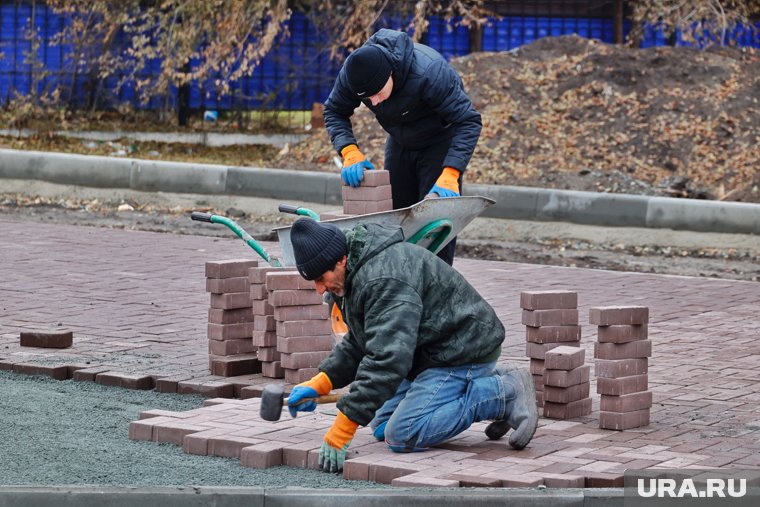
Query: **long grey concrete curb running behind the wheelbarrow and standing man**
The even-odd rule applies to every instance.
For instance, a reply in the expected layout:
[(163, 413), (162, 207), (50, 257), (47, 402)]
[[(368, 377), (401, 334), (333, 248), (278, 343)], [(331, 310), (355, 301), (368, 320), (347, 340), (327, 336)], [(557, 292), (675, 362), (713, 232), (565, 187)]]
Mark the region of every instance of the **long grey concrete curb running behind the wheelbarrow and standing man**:
[[(0, 178), (341, 203), (340, 176), (332, 172), (0, 150)], [(758, 204), (476, 184), (467, 185), (465, 195), (495, 200), (483, 214), (491, 218), (760, 234)]]

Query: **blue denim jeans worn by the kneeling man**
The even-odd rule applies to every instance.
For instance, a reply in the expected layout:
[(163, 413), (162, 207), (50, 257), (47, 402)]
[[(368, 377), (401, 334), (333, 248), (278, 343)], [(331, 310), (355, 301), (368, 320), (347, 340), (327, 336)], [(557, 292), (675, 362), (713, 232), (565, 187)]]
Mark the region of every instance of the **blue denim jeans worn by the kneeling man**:
[[(458, 435), (474, 422), (501, 419), (504, 386), (495, 362), (430, 368), (413, 382), (404, 379), (370, 422), (385, 425), (385, 442), (395, 452), (424, 451)], [(376, 435), (382, 433), (382, 428)]]

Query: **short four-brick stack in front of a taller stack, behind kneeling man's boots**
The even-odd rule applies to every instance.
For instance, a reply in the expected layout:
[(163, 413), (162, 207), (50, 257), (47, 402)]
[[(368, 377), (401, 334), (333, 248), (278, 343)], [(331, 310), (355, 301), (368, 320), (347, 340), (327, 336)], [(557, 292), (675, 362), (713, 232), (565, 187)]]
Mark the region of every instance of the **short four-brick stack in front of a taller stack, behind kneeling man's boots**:
[(580, 347), (556, 347), (544, 360), (544, 417), (574, 419), (591, 413), (590, 366)]

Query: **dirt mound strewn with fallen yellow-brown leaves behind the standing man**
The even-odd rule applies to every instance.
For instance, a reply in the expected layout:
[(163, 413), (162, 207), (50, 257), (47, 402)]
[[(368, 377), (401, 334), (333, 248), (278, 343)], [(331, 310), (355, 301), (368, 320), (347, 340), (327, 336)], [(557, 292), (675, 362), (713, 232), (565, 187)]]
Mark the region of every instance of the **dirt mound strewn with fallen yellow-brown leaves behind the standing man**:
[[(452, 61), (483, 132), (467, 182), (760, 202), (760, 54), (576, 36)], [(361, 148), (382, 165), (366, 108)], [(335, 170), (324, 129), (274, 163)]]

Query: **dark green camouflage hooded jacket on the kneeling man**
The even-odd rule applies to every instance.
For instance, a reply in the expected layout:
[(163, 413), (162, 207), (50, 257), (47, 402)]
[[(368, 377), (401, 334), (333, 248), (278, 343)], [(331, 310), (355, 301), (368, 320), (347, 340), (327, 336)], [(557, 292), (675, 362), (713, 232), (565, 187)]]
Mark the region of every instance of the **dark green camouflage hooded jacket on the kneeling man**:
[(459, 272), (397, 227), (360, 224), (346, 238), (346, 294), (335, 301), (349, 332), (319, 368), (333, 387), (351, 384), (338, 402), (349, 419), (366, 426), (427, 368), (498, 359), (504, 326)]

